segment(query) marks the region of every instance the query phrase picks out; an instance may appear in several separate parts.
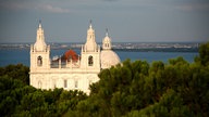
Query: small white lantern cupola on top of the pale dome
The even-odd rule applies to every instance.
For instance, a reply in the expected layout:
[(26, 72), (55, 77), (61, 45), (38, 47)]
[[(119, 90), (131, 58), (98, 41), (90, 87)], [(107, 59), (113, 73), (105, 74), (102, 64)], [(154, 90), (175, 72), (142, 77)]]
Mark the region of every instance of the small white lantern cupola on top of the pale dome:
[(102, 49), (103, 50), (110, 50), (111, 48), (112, 48), (111, 39), (108, 36), (108, 29), (107, 29), (106, 30), (106, 37), (103, 38), (103, 41), (102, 41)]

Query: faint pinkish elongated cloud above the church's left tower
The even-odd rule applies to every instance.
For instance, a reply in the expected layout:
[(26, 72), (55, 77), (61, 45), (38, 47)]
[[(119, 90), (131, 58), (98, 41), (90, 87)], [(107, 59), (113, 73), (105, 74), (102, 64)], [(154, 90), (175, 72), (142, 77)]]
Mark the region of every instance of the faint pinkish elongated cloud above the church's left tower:
[(39, 5), (39, 8), (46, 12), (51, 12), (51, 13), (70, 13), (69, 9), (52, 6), (51, 4)]

